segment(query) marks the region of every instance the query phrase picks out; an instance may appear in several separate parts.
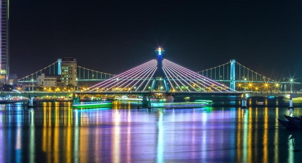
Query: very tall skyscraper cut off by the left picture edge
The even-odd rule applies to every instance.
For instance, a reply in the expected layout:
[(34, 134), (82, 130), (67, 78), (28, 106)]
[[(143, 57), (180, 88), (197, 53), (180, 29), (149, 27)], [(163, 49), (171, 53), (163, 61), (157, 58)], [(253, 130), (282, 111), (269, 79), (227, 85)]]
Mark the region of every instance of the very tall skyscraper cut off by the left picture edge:
[(9, 84), (9, 52), (8, 52), (8, 25), (9, 0), (0, 0), (0, 81)]

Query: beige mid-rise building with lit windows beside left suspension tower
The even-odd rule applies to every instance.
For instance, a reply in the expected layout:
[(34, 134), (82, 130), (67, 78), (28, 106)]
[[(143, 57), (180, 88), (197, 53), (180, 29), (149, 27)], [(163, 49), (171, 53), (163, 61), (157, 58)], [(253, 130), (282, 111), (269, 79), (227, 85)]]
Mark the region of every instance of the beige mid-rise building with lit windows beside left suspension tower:
[(61, 83), (64, 85), (76, 86), (76, 59), (64, 57), (61, 61)]

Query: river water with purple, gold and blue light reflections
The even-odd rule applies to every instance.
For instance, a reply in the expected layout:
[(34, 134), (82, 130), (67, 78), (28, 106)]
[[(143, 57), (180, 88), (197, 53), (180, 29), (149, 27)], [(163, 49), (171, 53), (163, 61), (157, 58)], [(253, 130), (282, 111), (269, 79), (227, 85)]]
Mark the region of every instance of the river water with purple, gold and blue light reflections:
[(2, 105), (0, 162), (301, 161), (302, 131), (289, 131), (277, 120), (289, 114), (287, 107), (241, 109), (230, 101), (139, 110), (131, 102), (96, 109), (72, 109), (68, 102), (37, 103), (34, 109)]

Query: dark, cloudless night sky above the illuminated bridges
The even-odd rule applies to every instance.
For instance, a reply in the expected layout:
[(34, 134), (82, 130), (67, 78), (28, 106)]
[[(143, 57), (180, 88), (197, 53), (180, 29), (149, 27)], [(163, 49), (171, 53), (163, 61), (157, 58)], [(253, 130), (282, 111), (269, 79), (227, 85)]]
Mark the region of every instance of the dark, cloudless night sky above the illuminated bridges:
[(266, 76), (302, 76), (302, 2), (215, 1), (106, 4), (10, 1), (11, 73), (28, 75), (59, 57), (119, 73), (156, 57), (194, 71), (236, 59)]

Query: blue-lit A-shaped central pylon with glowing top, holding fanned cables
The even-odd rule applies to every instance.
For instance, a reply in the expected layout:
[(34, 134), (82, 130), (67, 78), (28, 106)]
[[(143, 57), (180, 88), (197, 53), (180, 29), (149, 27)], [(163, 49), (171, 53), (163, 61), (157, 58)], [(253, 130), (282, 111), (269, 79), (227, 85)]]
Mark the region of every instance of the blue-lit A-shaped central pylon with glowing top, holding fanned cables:
[(168, 86), (168, 83), (166, 81), (166, 76), (165, 76), (165, 73), (162, 69), (162, 52), (165, 51), (164, 49), (162, 49), (160, 46), (156, 49), (156, 51), (158, 51), (158, 55), (157, 55), (157, 72), (154, 76), (154, 80), (152, 82), (152, 86), (151, 86), (151, 90), (150, 91), (153, 91), (154, 88), (155, 88), (155, 85), (156, 85), (156, 80), (157, 78), (160, 77), (160, 79), (162, 79), (164, 81), (164, 84), (165, 84), (165, 89), (166, 91), (170, 91), (169, 89), (169, 86)]

